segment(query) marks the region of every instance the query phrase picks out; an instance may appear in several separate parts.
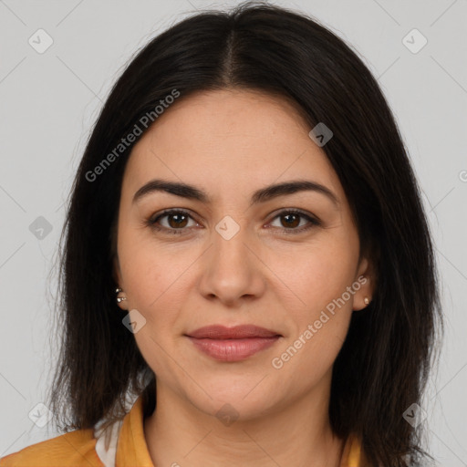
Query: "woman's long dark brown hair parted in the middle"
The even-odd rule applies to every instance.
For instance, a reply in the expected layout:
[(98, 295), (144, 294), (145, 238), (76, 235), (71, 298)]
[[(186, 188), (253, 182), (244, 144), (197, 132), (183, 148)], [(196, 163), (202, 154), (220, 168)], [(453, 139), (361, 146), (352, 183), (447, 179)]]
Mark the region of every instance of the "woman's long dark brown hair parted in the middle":
[(174, 89), (185, 99), (229, 87), (291, 99), (310, 129), (325, 122), (334, 133), (322, 149), (378, 281), (337, 356), (329, 416), (337, 435), (361, 437), (373, 465), (405, 466), (409, 455), (416, 465), (425, 455), (422, 425), (414, 428), (402, 415), (420, 402), (442, 319), (431, 235), (407, 150), (358, 54), (317, 20), (263, 3), (197, 13), (171, 26), (131, 60), (101, 110), (62, 233), (62, 348), (49, 396), (61, 429), (121, 417), (130, 392), (144, 394), (148, 411), (156, 404), (154, 375), (122, 325), (112, 274), (121, 182), (139, 137), (99, 176), (89, 180), (89, 173)]

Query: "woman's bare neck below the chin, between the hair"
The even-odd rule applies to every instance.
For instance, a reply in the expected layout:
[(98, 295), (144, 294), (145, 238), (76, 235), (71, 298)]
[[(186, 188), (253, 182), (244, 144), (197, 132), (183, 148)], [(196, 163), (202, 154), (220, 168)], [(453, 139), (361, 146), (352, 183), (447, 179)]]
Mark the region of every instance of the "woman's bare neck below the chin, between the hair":
[(344, 441), (331, 430), (328, 393), (225, 425), (158, 384), (157, 408), (144, 420), (150, 457), (155, 467), (338, 467)]

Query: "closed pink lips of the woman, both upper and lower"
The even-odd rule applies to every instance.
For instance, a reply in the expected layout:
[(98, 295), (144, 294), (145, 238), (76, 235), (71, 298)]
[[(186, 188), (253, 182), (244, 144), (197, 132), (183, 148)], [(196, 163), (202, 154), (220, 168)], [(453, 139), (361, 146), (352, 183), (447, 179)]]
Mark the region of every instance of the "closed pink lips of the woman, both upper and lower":
[(282, 337), (275, 331), (254, 325), (201, 327), (185, 336), (205, 355), (230, 362), (252, 357)]

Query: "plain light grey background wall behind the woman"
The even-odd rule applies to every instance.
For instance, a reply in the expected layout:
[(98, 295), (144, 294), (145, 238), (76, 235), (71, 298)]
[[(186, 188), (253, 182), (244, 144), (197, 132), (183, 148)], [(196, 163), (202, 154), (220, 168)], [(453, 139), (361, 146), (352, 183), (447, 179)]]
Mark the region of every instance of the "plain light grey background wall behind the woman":
[[(44, 400), (57, 355), (49, 345), (57, 277), (49, 272), (102, 102), (150, 37), (197, 9), (233, 3), (0, 0), (0, 456), (57, 434), (28, 413)], [(441, 365), (423, 404), (429, 449), (439, 465), (467, 465), (467, 2), (275, 3), (315, 16), (350, 43), (396, 115), (429, 213), (446, 317)], [(39, 41), (39, 28), (54, 41), (42, 54), (28, 43)], [(428, 40), (417, 53), (403, 41), (413, 28)], [(418, 47), (420, 37), (410, 36)], [(39, 216), (50, 233), (30, 229)]]

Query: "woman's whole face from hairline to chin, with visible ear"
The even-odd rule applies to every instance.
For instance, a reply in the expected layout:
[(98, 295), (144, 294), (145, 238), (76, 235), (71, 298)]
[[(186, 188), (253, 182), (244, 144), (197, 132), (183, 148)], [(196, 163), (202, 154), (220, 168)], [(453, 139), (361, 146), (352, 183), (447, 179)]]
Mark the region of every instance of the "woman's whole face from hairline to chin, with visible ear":
[[(310, 130), (285, 99), (218, 90), (174, 103), (133, 148), (115, 277), (158, 400), (206, 414), (228, 403), (245, 420), (326, 400), (372, 281)], [(156, 179), (195, 190), (148, 184)], [(265, 191), (295, 182), (308, 185)]]

